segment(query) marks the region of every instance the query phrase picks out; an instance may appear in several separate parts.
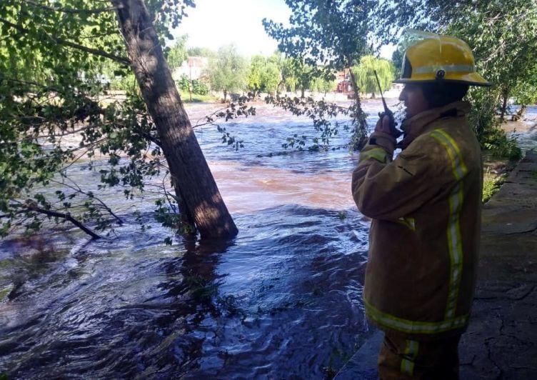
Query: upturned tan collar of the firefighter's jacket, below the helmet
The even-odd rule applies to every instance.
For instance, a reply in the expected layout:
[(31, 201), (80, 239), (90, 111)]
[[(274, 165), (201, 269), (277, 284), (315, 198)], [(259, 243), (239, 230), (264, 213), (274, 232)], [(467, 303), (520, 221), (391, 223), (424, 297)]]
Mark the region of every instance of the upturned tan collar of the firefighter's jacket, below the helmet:
[(470, 108), (468, 101), (455, 101), (446, 106), (428, 109), (412, 116), (410, 119), (403, 120), (401, 129), (403, 130), (404, 138), (399, 145), (405, 149), (416, 137), (425, 133), (433, 121), (444, 117), (465, 116), (470, 111)]

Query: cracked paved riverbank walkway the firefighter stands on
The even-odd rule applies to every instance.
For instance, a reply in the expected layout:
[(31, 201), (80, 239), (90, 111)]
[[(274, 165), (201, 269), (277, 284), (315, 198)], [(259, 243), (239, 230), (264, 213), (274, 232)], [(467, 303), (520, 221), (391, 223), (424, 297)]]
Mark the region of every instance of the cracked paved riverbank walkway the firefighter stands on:
[[(483, 206), (478, 284), (459, 345), (461, 379), (537, 377), (537, 153)], [(376, 379), (373, 333), (336, 379)]]

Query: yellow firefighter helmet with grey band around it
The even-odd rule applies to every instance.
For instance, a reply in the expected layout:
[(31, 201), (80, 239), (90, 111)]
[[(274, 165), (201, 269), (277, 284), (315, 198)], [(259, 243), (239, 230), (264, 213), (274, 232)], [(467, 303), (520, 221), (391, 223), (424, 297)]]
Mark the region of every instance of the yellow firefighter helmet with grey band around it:
[(394, 83), (449, 81), (491, 86), (476, 73), (472, 51), (463, 40), (420, 31), (405, 32), (411, 38), (406, 41), (401, 78)]

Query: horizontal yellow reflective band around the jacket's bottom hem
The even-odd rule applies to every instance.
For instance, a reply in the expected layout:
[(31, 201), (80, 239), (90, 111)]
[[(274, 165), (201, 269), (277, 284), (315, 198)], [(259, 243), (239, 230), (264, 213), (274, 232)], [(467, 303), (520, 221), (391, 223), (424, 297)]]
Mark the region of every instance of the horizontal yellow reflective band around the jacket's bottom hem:
[(438, 334), (443, 331), (459, 329), (468, 324), (468, 314), (456, 318), (444, 319), (438, 322), (411, 321), (409, 319), (399, 318), (371, 306), (364, 298), (363, 304), (366, 305), (366, 314), (381, 326), (390, 329), (402, 331), (408, 334)]

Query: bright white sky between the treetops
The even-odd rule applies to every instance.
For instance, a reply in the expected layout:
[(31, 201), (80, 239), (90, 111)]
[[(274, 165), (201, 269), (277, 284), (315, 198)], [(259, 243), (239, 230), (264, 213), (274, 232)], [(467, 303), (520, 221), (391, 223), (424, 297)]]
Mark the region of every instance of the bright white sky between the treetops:
[[(188, 47), (236, 44), (239, 54), (271, 55), (278, 48), (267, 36), (261, 20), (265, 17), (288, 24), (291, 10), (283, 0), (196, 0), (196, 8), (187, 9), (186, 17), (174, 35), (188, 34)], [(381, 56), (391, 59), (393, 48), (381, 49)]]

